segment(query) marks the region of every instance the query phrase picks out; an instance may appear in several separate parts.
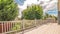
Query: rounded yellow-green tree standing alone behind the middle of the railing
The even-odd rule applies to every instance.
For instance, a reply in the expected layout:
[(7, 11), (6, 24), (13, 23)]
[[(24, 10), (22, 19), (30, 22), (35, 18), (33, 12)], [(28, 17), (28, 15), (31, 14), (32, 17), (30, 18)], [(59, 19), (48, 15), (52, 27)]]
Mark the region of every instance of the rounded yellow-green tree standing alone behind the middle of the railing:
[(43, 17), (43, 9), (40, 5), (27, 6), (22, 12), (22, 18), (24, 19), (41, 19)]

